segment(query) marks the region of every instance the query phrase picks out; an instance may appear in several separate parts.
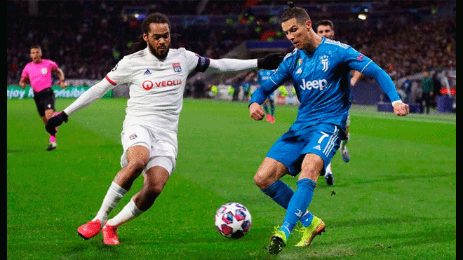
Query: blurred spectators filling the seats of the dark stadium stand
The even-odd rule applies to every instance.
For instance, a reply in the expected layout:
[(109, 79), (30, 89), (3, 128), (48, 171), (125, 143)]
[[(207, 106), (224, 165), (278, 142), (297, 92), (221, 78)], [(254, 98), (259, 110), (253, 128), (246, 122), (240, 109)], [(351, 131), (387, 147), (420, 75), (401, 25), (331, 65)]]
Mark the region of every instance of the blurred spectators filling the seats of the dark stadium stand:
[[(311, 1), (308, 1), (311, 2)], [(283, 1), (284, 3), (284, 1)], [(201, 4), (204, 4), (201, 6)], [(148, 6), (166, 15), (231, 15), (228, 26), (175, 25), (172, 47), (219, 58), (248, 39), (262, 39), (275, 19), (249, 17), (256, 4), (281, 1), (7, 1), (7, 83), (16, 84), (29, 47), (39, 45), (43, 57), (58, 63), (67, 78), (101, 79), (141, 34), (141, 19), (124, 17), (125, 6)], [(244, 15), (243, 15), (244, 14)], [(309, 13), (310, 15), (310, 13)], [(314, 23), (318, 17), (312, 17)], [(328, 18), (329, 19), (329, 18)], [(234, 25), (234, 21), (242, 26)], [(274, 26), (273, 26), (274, 27)], [(394, 78), (431, 69), (456, 69), (456, 19), (397, 22), (356, 29), (335, 23), (335, 39), (371, 57)], [(274, 39), (285, 39), (275, 34)]]

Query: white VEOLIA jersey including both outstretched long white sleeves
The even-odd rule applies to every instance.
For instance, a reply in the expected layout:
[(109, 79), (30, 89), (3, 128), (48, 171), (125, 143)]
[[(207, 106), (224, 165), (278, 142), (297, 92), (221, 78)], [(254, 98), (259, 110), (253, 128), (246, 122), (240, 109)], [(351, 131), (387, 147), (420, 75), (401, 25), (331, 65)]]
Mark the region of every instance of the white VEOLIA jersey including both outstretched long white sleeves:
[(255, 68), (256, 59), (213, 60), (184, 48), (170, 49), (166, 59), (159, 60), (147, 47), (124, 56), (105, 79), (89, 88), (64, 111), (69, 116), (95, 102), (114, 86), (127, 83), (130, 98), (123, 128), (145, 125), (148, 128), (177, 131), (188, 74), (206, 69), (225, 72)]

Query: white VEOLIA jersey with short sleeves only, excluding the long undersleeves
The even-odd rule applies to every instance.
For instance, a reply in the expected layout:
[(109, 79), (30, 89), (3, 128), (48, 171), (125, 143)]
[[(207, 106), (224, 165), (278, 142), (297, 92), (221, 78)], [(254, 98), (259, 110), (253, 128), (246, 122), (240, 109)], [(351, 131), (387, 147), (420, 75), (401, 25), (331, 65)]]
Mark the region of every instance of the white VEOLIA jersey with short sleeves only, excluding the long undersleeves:
[(156, 58), (148, 48), (123, 57), (106, 79), (113, 85), (128, 84), (124, 126), (141, 121), (176, 131), (187, 76), (200, 58), (184, 48), (170, 49), (165, 60)]

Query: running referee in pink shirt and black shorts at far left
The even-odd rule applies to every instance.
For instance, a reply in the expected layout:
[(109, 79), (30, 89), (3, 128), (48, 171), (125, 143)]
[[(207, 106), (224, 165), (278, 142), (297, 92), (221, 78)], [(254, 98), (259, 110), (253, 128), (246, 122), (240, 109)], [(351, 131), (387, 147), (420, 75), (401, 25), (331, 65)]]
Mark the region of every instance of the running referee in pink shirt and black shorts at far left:
[[(65, 74), (55, 62), (42, 58), (40, 46), (30, 48), (30, 57), (32, 62), (27, 63), (22, 70), (19, 85), (21, 88), (26, 88), (26, 83), (29, 81), (34, 90), (37, 111), (39, 111), (43, 124), (46, 124), (55, 113), (55, 93), (51, 89), (51, 73), (55, 72), (58, 75), (60, 78), (58, 85), (63, 89), (66, 88)], [(57, 147), (54, 135), (50, 135), (48, 142), (47, 151)]]

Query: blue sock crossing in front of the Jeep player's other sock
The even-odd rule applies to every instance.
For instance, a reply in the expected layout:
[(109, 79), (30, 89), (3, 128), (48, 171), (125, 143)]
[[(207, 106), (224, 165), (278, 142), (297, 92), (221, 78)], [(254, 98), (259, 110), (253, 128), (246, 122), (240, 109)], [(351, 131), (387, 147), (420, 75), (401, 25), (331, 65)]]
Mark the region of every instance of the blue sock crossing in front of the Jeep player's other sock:
[(306, 212), (307, 207), (309, 207), (312, 197), (314, 196), (315, 186), (316, 183), (307, 178), (300, 179), (299, 182), (297, 182), (297, 191), (288, 203), (285, 221), (283, 221), (283, 225), (281, 225), (281, 230), (286, 233), (286, 238), (289, 238), (297, 221), (302, 217), (302, 214)]

